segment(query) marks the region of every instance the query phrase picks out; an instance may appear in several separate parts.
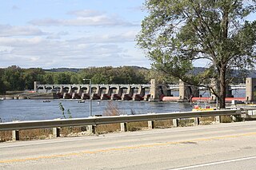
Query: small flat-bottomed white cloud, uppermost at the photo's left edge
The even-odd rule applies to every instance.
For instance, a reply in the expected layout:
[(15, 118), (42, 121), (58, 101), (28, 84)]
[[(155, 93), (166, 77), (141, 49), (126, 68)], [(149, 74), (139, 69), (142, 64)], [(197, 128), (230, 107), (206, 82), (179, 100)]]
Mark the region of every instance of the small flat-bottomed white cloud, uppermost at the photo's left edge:
[(45, 32), (32, 26), (0, 25), (0, 37), (44, 35)]

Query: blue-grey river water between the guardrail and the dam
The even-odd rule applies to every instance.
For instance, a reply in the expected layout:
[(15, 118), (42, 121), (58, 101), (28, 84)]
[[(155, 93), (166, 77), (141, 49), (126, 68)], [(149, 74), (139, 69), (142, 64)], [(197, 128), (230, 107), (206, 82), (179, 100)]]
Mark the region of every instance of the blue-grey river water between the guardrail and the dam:
[[(210, 97), (208, 93), (201, 93)], [(245, 90), (234, 91), (234, 97), (245, 97)], [(178, 95), (178, 94), (177, 94)], [(59, 103), (70, 109), (73, 118), (89, 117), (89, 100), (78, 103), (78, 100), (56, 99), (50, 102), (43, 100), (3, 100), (0, 101), (0, 122), (38, 121), (63, 118)], [(170, 113), (191, 111), (190, 103), (149, 102), (149, 101), (92, 101), (92, 115), (102, 115), (109, 105), (114, 105), (121, 114)]]

